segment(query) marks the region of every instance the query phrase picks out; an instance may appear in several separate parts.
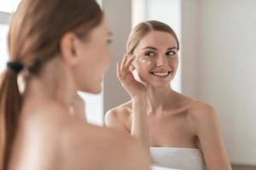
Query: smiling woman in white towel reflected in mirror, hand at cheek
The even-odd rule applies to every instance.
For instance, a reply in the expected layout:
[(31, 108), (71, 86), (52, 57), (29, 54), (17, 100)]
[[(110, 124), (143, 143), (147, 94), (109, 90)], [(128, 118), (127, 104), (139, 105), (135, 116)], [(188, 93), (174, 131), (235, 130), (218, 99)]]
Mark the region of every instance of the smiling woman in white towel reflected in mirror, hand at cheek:
[(108, 111), (106, 125), (140, 139), (157, 166), (201, 170), (206, 162), (207, 169), (230, 169), (215, 111), (170, 87), (178, 49), (175, 32), (159, 21), (131, 31), (117, 66), (131, 100)]

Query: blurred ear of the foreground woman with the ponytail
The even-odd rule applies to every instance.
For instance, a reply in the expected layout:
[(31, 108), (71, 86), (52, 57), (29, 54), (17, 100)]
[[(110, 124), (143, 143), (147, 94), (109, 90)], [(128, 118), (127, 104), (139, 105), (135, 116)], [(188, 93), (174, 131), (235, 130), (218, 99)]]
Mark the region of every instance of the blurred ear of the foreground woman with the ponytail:
[(76, 48), (77, 37), (74, 33), (68, 32), (62, 38), (60, 42), (60, 52), (62, 59), (67, 65), (74, 66), (79, 62), (79, 57)]

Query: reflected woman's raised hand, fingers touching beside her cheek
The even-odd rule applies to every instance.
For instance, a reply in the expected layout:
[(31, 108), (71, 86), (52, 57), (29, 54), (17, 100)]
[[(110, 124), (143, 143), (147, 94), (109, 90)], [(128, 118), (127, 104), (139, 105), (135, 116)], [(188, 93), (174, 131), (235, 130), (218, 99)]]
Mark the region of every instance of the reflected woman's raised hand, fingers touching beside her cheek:
[(147, 89), (141, 82), (133, 77), (131, 72), (131, 63), (135, 56), (131, 54), (125, 54), (121, 65), (117, 63), (117, 77), (125, 88), (126, 92), (130, 94), (131, 99), (146, 98)]

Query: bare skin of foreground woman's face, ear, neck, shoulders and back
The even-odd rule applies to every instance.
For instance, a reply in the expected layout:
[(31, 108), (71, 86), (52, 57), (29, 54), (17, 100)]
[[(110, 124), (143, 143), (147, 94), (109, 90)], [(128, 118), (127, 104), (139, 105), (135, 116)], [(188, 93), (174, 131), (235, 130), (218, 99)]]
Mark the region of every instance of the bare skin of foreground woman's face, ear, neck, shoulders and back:
[(86, 41), (68, 32), (61, 54), (30, 78), (9, 170), (149, 169), (149, 157), (136, 139), (84, 119), (77, 91), (102, 91), (102, 76), (111, 63), (108, 39), (106, 20)]

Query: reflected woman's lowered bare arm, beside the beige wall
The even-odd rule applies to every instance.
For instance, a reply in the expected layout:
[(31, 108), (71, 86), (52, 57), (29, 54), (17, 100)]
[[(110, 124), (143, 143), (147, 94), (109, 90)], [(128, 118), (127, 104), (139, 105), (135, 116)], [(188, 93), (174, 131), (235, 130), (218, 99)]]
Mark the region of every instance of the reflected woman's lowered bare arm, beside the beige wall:
[(229, 158), (218, 124), (218, 116), (210, 105), (198, 104), (192, 113), (208, 170), (230, 170)]

